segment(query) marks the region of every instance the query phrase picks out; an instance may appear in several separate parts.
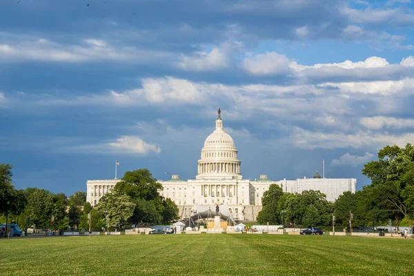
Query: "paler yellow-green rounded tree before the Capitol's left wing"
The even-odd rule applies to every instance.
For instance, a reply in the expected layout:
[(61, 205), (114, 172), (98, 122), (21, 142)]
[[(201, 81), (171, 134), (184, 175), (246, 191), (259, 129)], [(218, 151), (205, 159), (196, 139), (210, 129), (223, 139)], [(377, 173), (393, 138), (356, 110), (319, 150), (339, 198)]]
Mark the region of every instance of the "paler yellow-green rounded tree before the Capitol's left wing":
[(126, 195), (118, 193), (106, 193), (96, 206), (102, 215), (108, 217), (108, 227), (124, 228), (132, 216), (135, 203), (130, 201)]

